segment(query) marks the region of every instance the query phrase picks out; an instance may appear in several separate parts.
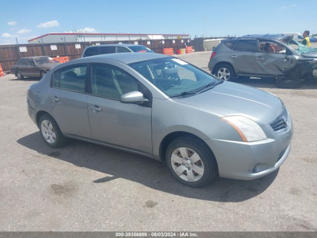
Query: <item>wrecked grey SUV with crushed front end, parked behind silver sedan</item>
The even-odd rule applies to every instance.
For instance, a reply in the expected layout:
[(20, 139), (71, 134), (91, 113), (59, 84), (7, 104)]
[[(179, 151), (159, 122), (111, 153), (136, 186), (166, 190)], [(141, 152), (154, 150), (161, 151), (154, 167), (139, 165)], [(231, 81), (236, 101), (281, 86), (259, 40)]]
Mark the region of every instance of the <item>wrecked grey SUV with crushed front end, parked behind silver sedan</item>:
[[(317, 54), (302, 54), (292, 36), (248, 35), (223, 40), (212, 52), (209, 70), (222, 80), (233, 77), (273, 77), (277, 86), (300, 87), (316, 78)], [(300, 44), (300, 43), (298, 43)], [(315, 71), (314, 71), (315, 70)]]

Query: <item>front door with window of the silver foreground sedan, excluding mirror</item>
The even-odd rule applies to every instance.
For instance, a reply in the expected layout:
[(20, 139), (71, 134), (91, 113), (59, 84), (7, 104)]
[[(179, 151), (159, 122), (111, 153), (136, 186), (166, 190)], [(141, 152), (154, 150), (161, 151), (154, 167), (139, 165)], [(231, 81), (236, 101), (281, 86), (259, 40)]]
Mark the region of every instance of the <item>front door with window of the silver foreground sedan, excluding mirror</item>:
[(125, 104), (120, 96), (140, 91), (152, 101), (151, 92), (136, 78), (110, 64), (93, 64), (88, 115), (96, 141), (152, 154), (150, 106)]

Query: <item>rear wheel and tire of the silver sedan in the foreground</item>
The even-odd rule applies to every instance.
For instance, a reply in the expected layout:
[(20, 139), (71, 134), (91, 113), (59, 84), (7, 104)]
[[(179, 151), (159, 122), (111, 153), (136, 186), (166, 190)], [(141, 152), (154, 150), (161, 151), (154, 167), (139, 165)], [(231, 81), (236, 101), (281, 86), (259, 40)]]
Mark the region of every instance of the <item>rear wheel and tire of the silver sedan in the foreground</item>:
[(58, 148), (67, 142), (67, 138), (61, 133), (57, 123), (50, 115), (45, 114), (40, 118), (39, 127), (43, 140), (49, 146)]

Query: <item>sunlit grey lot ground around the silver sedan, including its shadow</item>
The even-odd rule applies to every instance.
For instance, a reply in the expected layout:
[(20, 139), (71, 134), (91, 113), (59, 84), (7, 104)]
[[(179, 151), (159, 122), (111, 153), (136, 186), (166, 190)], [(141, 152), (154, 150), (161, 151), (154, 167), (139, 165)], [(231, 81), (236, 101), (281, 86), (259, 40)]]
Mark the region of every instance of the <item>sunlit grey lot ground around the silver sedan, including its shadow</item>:
[[(179, 58), (207, 70), (210, 55)], [(142, 156), (76, 140), (48, 147), (27, 114), (26, 89), (37, 81), (0, 77), (0, 231), (317, 230), (317, 89), (236, 79), (284, 101), (291, 154), (262, 179), (194, 189)]]

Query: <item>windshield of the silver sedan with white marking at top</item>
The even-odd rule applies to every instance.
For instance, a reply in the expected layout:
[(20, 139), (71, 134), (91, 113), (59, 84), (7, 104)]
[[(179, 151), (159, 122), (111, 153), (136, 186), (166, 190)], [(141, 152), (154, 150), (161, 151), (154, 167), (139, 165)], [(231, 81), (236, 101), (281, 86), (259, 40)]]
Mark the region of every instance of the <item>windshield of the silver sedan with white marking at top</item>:
[(174, 57), (129, 64), (169, 97), (194, 94), (222, 81)]

